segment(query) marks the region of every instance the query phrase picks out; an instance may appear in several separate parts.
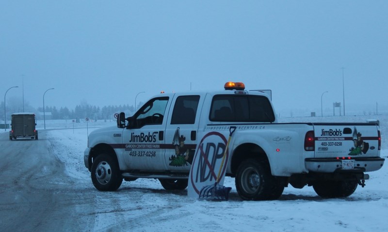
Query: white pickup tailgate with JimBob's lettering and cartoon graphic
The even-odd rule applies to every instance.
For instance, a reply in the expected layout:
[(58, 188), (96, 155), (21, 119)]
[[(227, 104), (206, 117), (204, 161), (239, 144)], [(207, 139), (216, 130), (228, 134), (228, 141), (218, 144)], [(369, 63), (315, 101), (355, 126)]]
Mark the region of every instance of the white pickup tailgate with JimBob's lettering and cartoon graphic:
[(313, 124), (315, 158), (380, 156), (379, 126), (358, 124)]

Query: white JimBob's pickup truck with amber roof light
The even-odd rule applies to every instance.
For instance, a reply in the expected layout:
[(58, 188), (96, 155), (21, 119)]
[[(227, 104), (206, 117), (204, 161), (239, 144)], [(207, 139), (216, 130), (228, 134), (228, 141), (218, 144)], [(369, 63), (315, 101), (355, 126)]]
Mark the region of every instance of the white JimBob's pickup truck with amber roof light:
[(191, 182), (215, 181), (231, 126), (222, 174), (235, 178), (243, 200), (278, 199), (289, 184), (347, 197), (384, 164), (378, 123), (277, 123), (270, 91), (224, 87), (158, 94), (133, 116), (120, 113), (116, 126), (90, 133), (84, 162), (94, 186), (114, 191), (123, 179), (154, 178), (167, 190), (185, 189), (193, 162), (201, 170)]

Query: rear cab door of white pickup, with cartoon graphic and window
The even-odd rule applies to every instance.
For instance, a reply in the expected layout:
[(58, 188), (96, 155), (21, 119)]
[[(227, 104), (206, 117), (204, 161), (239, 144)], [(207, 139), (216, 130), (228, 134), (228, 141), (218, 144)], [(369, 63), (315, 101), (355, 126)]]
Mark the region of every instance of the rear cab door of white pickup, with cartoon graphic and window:
[(197, 143), (200, 95), (182, 95), (173, 99), (165, 139), (165, 164), (168, 170), (190, 171)]

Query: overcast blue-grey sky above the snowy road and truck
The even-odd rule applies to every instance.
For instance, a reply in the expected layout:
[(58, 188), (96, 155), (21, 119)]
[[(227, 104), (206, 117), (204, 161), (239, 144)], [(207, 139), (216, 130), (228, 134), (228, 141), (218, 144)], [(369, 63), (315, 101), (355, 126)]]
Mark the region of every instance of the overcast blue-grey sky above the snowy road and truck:
[[(3, 0), (0, 94), (33, 107), (271, 89), (278, 113), (388, 112), (387, 0)], [(24, 76), (22, 76), (24, 75)], [(1, 100), (3, 101), (3, 100)], [(342, 103), (343, 104), (343, 103)]]

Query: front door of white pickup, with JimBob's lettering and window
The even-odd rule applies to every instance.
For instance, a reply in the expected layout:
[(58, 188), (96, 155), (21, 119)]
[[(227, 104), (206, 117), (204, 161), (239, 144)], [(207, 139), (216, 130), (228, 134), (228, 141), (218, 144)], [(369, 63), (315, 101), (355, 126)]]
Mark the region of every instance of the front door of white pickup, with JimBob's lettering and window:
[(164, 130), (169, 97), (156, 97), (140, 108), (123, 132), (123, 156), (129, 169), (166, 170)]

